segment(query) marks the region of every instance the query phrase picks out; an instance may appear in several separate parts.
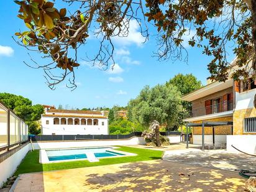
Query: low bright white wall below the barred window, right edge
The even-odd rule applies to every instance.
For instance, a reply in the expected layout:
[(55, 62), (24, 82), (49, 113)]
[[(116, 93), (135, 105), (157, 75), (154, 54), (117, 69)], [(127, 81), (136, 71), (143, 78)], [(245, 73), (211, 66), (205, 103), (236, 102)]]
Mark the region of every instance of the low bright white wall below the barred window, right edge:
[(244, 152), (256, 154), (256, 135), (227, 135), (227, 150), (237, 152), (231, 145)]

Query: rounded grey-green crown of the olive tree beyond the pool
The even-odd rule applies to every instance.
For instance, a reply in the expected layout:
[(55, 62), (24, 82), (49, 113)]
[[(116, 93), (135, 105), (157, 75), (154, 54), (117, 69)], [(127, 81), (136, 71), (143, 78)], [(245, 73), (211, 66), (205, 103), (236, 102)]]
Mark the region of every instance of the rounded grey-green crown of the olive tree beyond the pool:
[(145, 86), (137, 98), (128, 104), (129, 116), (145, 127), (153, 121), (173, 127), (178, 124), (178, 114), (182, 111), (180, 93), (173, 85)]

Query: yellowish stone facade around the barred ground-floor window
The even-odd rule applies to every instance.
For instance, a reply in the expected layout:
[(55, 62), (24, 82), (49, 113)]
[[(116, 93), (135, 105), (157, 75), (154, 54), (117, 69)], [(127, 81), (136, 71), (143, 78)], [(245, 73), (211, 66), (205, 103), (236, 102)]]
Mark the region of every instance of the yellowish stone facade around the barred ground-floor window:
[(233, 129), (234, 135), (246, 135), (246, 134), (256, 134), (256, 133), (246, 133), (244, 132), (244, 118), (256, 117), (256, 109), (241, 109), (234, 111), (233, 114)]

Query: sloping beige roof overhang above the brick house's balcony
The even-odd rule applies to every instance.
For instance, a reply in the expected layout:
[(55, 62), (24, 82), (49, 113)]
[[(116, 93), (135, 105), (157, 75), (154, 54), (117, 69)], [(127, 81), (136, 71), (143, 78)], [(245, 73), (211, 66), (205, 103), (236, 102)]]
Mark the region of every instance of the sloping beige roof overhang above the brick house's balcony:
[(189, 94), (186, 94), (181, 99), (183, 101), (194, 101), (199, 98), (203, 98), (204, 96), (208, 96), (209, 94), (216, 93), (217, 91), (221, 91), (227, 88), (230, 88), (233, 86), (233, 80), (227, 80), (225, 82), (219, 82), (215, 81), (213, 83), (210, 83), (206, 86), (203, 86), (200, 89), (197, 89), (195, 91), (192, 91)]

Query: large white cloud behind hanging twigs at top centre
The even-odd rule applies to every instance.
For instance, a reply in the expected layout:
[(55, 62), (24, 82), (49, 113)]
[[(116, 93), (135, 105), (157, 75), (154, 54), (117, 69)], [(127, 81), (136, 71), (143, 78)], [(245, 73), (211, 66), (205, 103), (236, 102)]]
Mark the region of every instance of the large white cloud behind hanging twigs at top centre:
[(129, 24), (129, 34), (122, 34), (124, 37), (113, 37), (115, 43), (119, 45), (131, 45), (136, 44), (141, 46), (145, 41), (145, 37), (140, 34), (140, 25), (135, 19), (130, 20)]

